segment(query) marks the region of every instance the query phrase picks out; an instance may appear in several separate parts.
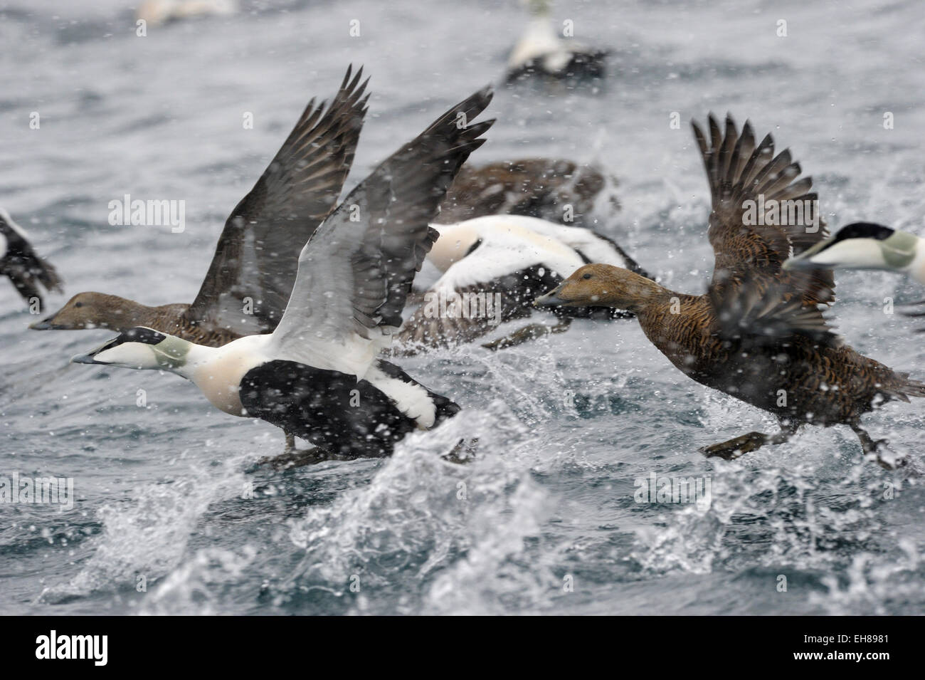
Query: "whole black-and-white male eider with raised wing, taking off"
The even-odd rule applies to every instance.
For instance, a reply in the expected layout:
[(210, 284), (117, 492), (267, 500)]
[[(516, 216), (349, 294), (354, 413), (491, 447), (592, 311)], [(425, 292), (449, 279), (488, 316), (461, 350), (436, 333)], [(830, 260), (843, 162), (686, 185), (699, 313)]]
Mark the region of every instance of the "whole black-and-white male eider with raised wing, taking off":
[(437, 239), (428, 223), (494, 122), (459, 127), (459, 116), (473, 120), (490, 101), (485, 89), (453, 106), (327, 216), (273, 333), (214, 348), (133, 328), (72, 361), (178, 373), (225, 413), (283, 427), (331, 458), (386, 456), (407, 433), (435, 427), (459, 406), (377, 354)]

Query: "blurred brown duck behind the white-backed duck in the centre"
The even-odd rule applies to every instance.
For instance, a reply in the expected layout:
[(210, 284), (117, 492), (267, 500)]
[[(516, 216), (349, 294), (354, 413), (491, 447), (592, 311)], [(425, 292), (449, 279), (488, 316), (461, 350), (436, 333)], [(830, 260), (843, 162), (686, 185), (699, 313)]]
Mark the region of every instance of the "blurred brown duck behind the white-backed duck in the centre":
[(520, 158), (462, 168), (440, 204), (437, 222), (455, 224), (489, 215), (525, 215), (589, 224), (596, 205), (616, 212), (617, 179), (598, 163)]

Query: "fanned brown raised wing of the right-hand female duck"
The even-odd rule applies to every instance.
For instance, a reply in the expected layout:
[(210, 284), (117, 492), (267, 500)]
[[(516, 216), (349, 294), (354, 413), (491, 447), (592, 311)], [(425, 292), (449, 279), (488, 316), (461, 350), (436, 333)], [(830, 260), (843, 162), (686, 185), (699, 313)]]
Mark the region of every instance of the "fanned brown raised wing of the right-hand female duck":
[[(774, 155), (767, 135), (755, 142), (746, 121), (739, 134), (732, 117), (721, 132), (709, 116), (709, 140), (692, 123), (709, 179), (712, 211), (709, 242), (715, 254), (712, 295), (738, 289), (747, 279), (759, 290), (774, 287), (786, 299), (795, 294), (806, 304), (831, 303), (832, 271), (783, 271), (783, 262), (828, 236), (818, 210), (818, 197), (809, 190), (812, 179), (800, 178), (800, 166), (789, 149)], [(776, 215), (774, 211), (776, 210)]]

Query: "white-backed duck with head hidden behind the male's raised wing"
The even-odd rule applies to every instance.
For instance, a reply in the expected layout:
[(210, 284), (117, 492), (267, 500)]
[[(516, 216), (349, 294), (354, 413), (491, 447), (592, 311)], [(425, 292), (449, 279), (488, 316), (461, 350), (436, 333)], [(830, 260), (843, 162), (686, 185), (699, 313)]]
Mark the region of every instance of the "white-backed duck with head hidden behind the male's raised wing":
[[(415, 353), (470, 342), (500, 323), (531, 315), (534, 300), (578, 266), (604, 262), (648, 273), (616, 242), (591, 229), (530, 216), (475, 217), (433, 225), (427, 261), (442, 273), (398, 334), (397, 351)], [(484, 345), (498, 350), (569, 328), (575, 317), (625, 318), (606, 307), (562, 309), (555, 326), (531, 324)]]

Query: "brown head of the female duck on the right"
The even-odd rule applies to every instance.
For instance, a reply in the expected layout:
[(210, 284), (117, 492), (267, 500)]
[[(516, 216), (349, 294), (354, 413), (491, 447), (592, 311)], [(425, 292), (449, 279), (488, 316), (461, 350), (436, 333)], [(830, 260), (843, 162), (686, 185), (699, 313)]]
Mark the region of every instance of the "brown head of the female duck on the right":
[(640, 309), (665, 291), (650, 278), (610, 265), (585, 265), (534, 304), (561, 307), (614, 307), (629, 312)]

